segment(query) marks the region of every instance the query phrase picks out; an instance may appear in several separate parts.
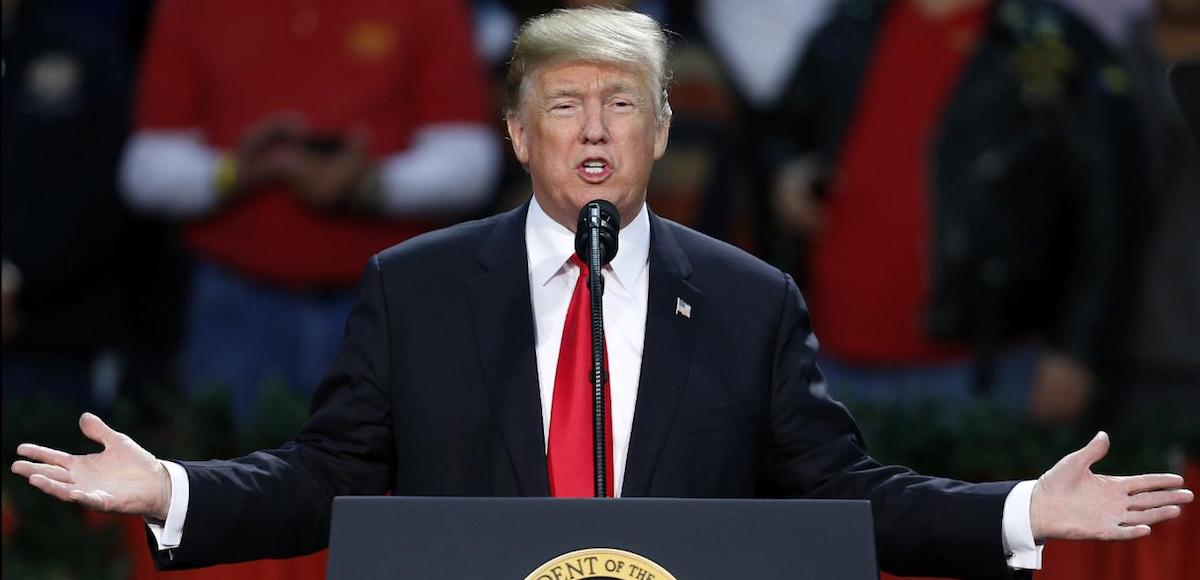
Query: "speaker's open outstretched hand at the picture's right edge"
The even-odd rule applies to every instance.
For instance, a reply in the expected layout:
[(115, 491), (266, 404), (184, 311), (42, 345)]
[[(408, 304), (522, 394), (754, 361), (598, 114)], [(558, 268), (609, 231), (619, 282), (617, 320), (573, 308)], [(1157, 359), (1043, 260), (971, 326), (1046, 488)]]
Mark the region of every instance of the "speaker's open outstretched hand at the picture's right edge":
[(1150, 526), (1177, 518), (1195, 497), (1174, 473), (1092, 473), (1108, 453), (1109, 436), (1100, 431), (1038, 478), (1030, 502), (1034, 539), (1141, 538), (1150, 536)]

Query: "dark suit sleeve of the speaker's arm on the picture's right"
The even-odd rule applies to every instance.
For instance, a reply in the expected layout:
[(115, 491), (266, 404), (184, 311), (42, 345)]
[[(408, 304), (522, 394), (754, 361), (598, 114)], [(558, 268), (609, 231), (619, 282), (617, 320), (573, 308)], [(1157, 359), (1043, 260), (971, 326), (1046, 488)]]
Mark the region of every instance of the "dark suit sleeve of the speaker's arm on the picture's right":
[(866, 498), (882, 569), (901, 575), (1009, 578), (1002, 544), (1014, 482), (970, 484), (883, 466), (853, 418), (829, 397), (817, 340), (790, 276), (774, 353), (768, 466), (791, 497)]

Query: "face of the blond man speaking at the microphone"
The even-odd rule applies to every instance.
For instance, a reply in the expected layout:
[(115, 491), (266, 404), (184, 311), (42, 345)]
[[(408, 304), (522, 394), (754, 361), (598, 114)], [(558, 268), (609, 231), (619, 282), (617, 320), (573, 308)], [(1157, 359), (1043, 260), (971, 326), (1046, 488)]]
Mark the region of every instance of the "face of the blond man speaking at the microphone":
[(668, 122), (655, 122), (646, 82), (616, 65), (546, 66), (508, 125), (538, 204), (571, 231), (593, 199), (616, 205), (622, 226), (632, 221), (646, 202), (650, 168), (667, 147)]

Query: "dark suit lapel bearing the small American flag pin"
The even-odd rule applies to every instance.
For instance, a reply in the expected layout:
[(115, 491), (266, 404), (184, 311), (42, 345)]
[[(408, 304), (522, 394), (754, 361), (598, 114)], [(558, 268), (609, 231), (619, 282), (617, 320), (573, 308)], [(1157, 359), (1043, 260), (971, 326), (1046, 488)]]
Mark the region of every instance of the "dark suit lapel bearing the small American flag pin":
[[(671, 433), (691, 366), (691, 351), (701, 293), (688, 281), (691, 263), (679, 249), (671, 226), (650, 214), (650, 281), (646, 307), (646, 346), (637, 385), (634, 429), (622, 495), (644, 496)], [(691, 306), (690, 316), (677, 313), (678, 301)]]

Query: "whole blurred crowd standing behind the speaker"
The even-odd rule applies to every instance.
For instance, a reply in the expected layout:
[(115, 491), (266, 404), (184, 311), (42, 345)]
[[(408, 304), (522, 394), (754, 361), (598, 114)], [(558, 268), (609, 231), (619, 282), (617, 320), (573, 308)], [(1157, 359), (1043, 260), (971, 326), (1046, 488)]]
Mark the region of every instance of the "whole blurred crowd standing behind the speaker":
[[(538, 0), (4, 0), (4, 400), (304, 395), (367, 258), (523, 203)], [(800, 282), (835, 396), (1200, 411), (1200, 0), (646, 0), (650, 208)], [(161, 419), (161, 418), (160, 418)]]

